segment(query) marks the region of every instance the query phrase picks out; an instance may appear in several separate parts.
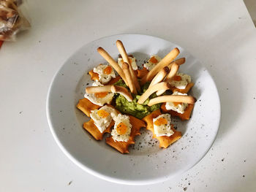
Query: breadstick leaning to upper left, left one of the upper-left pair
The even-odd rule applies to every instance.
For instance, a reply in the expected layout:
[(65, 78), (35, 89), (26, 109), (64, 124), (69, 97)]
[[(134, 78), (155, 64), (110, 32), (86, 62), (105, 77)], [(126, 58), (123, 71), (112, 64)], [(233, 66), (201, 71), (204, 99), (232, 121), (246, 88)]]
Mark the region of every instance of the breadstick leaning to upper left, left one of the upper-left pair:
[(121, 78), (124, 80), (125, 84), (128, 86), (127, 79), (124, 75), (124, 72), (121, 69), (121, 67), (116, 63), (116, 61), (102, 47), (98, 47), (97, 51), (99, 52), (100, 55), (102, 55), (103, 58), (105, 58), (106, 61), (108, 61), (108, 63), (111, 66), (113, 66), (113, 69), (116, 70), (116, 72), (121, 76)]

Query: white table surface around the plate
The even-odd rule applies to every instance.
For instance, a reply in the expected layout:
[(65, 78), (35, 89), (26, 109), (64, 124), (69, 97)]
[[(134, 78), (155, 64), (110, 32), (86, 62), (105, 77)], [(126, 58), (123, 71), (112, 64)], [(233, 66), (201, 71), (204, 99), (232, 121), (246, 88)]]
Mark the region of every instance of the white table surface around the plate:
[[(26, 1), (31, 30), (0, 50), (0, 191), (255, 191), (256, 34), (243, 1)], [(56, 70), (79, 47), (121, 33), (184, 47), (211, 72), (222, 120), (206, 156), (164, 183), (129, 186), (84, 172), (45, 114)]]

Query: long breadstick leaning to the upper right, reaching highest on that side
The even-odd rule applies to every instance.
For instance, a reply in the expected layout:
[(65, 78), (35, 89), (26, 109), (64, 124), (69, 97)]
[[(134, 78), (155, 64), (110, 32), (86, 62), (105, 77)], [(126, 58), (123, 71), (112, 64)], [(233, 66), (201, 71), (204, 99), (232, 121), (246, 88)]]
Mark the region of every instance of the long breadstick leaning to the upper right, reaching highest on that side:
[(170, 62), (172, 62), (178, 56), (178, 53), (179, 50), (177, 47), (171, 50), (170, 53), (165, 55), (165, 57), (161, 61), (159, 61), (159, 63), (156, 66), (154, 66), (154, 68), (151, 69), (151, 71), (148, 72), (148, 74), (146, 74), (145, 77), (143, 77), (141, 83), (145, 84), (147, 81), (152, 80), (153, 77), (157, 74), (157, 72), (159, 72), (165, 66), (169, 65)]

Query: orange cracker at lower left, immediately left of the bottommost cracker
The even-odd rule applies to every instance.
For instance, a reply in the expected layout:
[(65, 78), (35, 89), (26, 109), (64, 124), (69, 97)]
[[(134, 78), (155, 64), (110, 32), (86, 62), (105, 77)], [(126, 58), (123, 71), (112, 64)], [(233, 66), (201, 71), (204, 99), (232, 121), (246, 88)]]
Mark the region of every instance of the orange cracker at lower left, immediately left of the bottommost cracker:
[(110, 128), (114, 126), (114, 121), (112, 120), (110, 125), (108, 126), (108, 128), (105, 129), (105, 131), (103, 131), (102, 133), (99, 131), (99, 129), (97, 128), (97, 126), (94, 125), (94, 120), (89, 120), (86, 123), (83, 123), (83, 128), (86, 129), (86, 131), (89, 132), (89, 134), (91, 134), (92, 137), (94, 137), (94, 139), (98, 140), (102, 140), (103, 135), (105, 133), (110, 133)]

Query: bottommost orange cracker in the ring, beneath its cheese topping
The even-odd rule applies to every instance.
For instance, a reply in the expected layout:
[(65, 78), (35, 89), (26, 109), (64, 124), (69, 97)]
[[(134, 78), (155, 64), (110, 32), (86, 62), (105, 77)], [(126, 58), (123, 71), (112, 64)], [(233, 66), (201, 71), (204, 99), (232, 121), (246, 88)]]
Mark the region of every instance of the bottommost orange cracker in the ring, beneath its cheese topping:
[(111, 147), (114, 147), (120, 153), (129, 153), (129, 145), (135, 144), (134, 138), (135, 136), (140, 135), (140, 128), (146, 127), (143, 120), (139, 120), (132, 115), (129, 115), (129, 122), (132, 124), (132, 130), (127, 142), (115, 142), (112, 137), (106, 138), (106, 143)]

